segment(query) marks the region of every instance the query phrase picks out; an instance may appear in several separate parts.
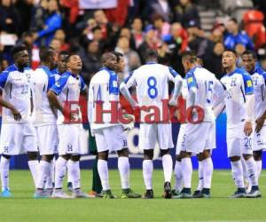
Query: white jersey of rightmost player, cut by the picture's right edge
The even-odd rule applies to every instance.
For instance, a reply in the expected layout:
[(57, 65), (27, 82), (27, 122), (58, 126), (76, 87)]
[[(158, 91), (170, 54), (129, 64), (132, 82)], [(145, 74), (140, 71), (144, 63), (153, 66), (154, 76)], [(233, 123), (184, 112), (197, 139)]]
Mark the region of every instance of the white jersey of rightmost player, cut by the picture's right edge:
[(266, 72), (261, 68), (255, 68), (251, 78), (254, 85), (255, 119), (257, 119), (266, 110)]

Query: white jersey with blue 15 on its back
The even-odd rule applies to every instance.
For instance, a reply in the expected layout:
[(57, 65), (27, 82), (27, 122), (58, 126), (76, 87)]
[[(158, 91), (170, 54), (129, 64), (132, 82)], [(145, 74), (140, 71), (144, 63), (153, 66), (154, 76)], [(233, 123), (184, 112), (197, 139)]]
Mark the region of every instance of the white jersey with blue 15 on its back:
[[(201, 107), (204, 111), (204, 119), (206, 122), (213, 122), (215, 114), (213, 111), (213, 99), (217, 91), (223, 89), (222, 83), (204, 67), (193, 67), (186, 75), (188, 91), (192, 87), (196, 89), (196, 100), (194, 106)], [(187, 108), (192, 107), (189, 95), (186, 99)]]

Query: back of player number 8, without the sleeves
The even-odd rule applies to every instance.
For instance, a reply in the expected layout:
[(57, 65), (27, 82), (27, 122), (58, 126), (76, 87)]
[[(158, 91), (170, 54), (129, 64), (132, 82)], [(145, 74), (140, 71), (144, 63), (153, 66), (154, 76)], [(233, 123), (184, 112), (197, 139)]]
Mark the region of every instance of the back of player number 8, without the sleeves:
[[(169, 67), (151, 63), (137, 68), (135, 75), (137, 101), (140, 106), (161, 106), (168, 99)], [(175, 77), (175, 76), (174, 76)]]

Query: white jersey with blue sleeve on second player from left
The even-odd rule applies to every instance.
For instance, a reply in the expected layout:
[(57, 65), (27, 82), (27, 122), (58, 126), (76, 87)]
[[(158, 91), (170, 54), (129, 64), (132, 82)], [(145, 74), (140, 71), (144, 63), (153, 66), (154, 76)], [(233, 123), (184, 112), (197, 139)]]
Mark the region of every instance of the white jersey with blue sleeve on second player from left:
[(35, 125), (56, 123), (57, 118), (51, 110), (47, 91), (55, 83), (55, 75), (48, 67), (38, 67), (34, 71), (35, 84)]

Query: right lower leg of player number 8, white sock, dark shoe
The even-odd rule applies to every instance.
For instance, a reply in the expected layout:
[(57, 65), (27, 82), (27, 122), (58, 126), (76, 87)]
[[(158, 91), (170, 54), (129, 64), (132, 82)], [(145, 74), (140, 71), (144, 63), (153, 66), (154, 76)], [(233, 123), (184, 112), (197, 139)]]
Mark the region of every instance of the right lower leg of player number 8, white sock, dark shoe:
[(169, 199), (172, 197), (171, 191), (171, 178), (173, 171), (173, 160), (170, 155), (170, 149), (160, 149), (162, 158), (162, 168), (164, 175), (164, 198)]

